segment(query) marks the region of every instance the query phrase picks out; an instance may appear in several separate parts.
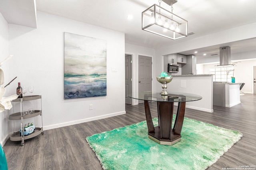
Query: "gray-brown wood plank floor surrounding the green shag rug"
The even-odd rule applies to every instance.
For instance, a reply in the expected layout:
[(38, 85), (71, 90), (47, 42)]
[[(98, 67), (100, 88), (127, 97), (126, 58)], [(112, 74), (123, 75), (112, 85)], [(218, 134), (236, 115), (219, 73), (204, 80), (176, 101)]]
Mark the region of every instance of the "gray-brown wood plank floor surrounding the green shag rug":
[[(157, 117), (155, 102), (150, 103), (150, 109), (152, 117)], [(241, 104), (231, 108), (214, 106), (214, 113), (186, 108), (185, 117), (243, 133), (242, 139), (207, 170), (256, 165), (256, 95), (241, 96)], [(101, 170), (86, 137), (144, 120), (144, 104), (126, 105), (125, 115), (47, 130), (26, 140), (23, 147), (9, 139), (3, 147), (9, 170)]]

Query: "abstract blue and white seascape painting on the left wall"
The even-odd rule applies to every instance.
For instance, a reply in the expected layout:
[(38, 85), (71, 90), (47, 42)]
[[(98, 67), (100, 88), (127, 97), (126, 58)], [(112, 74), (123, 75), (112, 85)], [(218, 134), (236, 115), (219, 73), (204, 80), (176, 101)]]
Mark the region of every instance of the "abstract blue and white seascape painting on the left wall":
[(64, 33), (64, 99), (106, 96), (106, 40)]

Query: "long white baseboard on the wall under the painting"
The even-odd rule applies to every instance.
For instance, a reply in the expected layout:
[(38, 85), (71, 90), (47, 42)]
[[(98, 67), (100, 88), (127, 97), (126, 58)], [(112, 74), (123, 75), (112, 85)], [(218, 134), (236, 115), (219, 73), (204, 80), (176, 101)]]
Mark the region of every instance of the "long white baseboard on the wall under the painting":
[(80, 119), (80, 120), (76, 120), (76, 121), (69, 121), (69, 122), (58, 123), (58, 124), (54, 124), (54, 125), (48, 125), (48, 126), (44, 126), (43, 128), (44, 128), (44, 130), (55, 129), (58, 127), (76, 125), (76, 124), (84, 123), (84, 122), (88, 122), (88, 121), (94, 121), (94, 120), (104, 119), (104, 118), (113, 117), (113, 116), (117, 116), (117, 115), (123, 115), (125, 113), (126, 113), (126, 111), (120, 111), (120, 112), (116, 112), (116, 113), (110, 113), (110, 114), (106, 114), (106, 115), (89, 117), (86, 119)]

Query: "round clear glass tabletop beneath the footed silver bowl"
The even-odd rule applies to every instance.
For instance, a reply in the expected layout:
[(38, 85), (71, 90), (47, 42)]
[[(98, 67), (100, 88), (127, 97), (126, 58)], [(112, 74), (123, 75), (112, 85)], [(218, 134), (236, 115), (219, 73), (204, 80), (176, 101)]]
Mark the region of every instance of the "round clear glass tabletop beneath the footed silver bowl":
[(138, 100), (147, 100), (154, 102), (191, 102), (201, 100), (202, 96), (190, 93), (168, 92), (168, 96), (161, 95), (161, 92), (141, 92), (132, 93), (127, 96)]

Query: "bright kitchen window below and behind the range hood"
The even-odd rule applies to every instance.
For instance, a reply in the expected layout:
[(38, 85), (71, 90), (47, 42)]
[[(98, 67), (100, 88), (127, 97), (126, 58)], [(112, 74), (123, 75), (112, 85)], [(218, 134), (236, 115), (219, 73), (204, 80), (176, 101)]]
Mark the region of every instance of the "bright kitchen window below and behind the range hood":
[(209, 73), (214, 74), (214, 82), (231, 82), (231, 77), (234, 77), (234, 67), (210, 68)]

